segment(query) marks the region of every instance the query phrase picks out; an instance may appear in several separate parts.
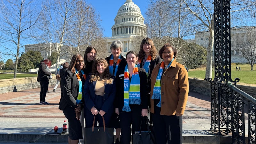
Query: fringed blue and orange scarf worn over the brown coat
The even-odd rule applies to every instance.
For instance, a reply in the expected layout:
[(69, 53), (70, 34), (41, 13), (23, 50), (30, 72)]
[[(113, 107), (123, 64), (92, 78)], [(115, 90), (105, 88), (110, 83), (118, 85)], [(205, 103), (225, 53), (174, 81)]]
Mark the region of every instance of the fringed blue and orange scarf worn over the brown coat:
[[(174, 59), (172, 59), (173, 61)], [(167, 69), (170, 67), (172, 61), (168, 64)], [(157, 107), (161, 108), (161, 78), (163, 74), (163, 69), (164, 69), (164, 61), (161, 62), (160, 68), (156, 77), (156, 82), (153, 88), (153, 94), (151, 99), (159, 99), (159, 103), (156, 105)]]

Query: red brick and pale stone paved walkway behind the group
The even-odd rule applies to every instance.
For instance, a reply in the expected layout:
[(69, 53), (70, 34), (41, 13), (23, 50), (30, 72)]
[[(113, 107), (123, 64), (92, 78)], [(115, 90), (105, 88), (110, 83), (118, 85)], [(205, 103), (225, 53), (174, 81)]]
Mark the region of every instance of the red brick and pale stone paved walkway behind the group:
[[(60, 87), (56, 93), (49, 87), (46, 101), (39, 104), (40, 88), (0, 94), (0, 134), (45, 134), (54, 126), (62, 127), (66, 120), (58, 109)], [(183, 115), (183, 136), (215, 135), (210, 129), (210, 97), (189, 93)]]

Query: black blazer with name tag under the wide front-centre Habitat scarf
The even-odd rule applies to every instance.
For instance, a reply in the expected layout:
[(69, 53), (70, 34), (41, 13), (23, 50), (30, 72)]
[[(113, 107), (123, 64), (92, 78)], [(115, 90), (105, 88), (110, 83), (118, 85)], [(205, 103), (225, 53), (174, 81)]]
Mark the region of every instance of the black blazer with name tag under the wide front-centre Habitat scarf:
[[(125, 69), (125, 68), (124, 68)], [(114, 102), (114, 107), (122, 110), (124, 106), (124, 69), (123, 73), (116, 75), (116, 97)], [(147, 99), (147, 75), (146, 71), (143, 68), (138, 68), (139, 77), (140, 77), (140, 99), (142, 108), (148, 109), (148, 99)]]

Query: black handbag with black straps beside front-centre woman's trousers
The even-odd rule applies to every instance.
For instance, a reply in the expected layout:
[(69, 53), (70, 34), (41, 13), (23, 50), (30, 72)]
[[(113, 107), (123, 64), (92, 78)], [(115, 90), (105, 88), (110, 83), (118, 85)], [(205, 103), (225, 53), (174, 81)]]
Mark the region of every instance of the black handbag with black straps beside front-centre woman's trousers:
[[(148, 131), (141, 131), (141, 124), (143, 119), (146, 119), (146, 124)], [(140, 132), (135, 132), (133, 134), (133, 144), (156, 144), (154, 132), (153, 132), (153, 124), (150, 124), (150, 121), (147, 116), (143, 116), (140, 122)]]

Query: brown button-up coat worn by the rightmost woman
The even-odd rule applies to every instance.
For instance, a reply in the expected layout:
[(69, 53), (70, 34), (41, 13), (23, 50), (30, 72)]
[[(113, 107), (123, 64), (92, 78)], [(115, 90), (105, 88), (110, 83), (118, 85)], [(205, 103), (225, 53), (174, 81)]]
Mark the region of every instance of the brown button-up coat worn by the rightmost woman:
[[(152, 113), (154, 113), (153, 105), (157, 105), (151, 97), (160, 65), (161, 63), (156, 65), (151, 75), (150, 112)], [(175, 115), (176, 112), (183, 114), (188, 100), (188, 91), (188, 72), (182, 64), (174, 59), (161, 77), (160, 114), (166, 116)]]

